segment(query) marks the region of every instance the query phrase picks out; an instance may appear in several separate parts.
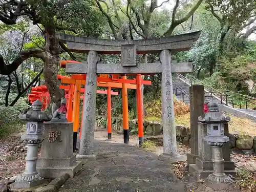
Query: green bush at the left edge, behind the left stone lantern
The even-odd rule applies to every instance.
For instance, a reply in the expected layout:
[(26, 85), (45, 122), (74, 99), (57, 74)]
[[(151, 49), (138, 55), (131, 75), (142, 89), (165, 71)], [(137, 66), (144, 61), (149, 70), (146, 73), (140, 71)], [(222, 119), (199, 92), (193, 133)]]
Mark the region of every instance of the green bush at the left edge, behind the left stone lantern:
[[(14, 106), (5, 106), (4, 95), (0, 95), (0, 138), (6, 137), (15, 131), (20, 130), (25, 121), (18, 119), (18, 115), (22, 114), (29, 105), (27, 104), (27, 98), (19, 99)], [(14, 98), (14, 95), (10, 95), (10, 100)]]

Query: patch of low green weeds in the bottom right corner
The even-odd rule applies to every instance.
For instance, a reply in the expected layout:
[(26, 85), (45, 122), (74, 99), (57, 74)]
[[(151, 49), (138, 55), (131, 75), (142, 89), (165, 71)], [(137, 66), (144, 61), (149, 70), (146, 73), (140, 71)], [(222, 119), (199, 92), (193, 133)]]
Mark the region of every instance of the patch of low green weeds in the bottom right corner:
[(256, 191), (256, 178), (251, 172), (244, 168), (238, 169), (240, 180), (237, 183), (242, 191)]

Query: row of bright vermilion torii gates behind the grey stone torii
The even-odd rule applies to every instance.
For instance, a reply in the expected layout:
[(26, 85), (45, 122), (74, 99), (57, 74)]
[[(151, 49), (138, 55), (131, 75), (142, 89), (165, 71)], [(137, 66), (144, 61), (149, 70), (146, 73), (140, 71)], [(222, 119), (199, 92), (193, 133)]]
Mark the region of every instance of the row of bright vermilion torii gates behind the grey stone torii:
[[(81, 63), (77, 61), (71, 60), (63, 60), (60, 62), (60, 66), (62, 68), (66, 68), (67, 63)], [(133, 76), (133, 74), (127, 74)], [(111, 91), (112, 88), (122, 89), (122, 109), (123, 109), (123, 141), (124, 143), (129, 143), (129, 112), (128, 112), (128, 100), (127, 100), (127, 89), (138, 89), (141, 88), (141, 84), (150, 85), (151, 81), (146, 81), (141, 79), (141, 75), (135, 75), (134, 79), (127, 79), (127, 75), (120, 76), (119, 74), (101, 74), (97, 78), (97, 86), (107, 88), (107, 90), (97, 90), (97, 94), (107, 94), (107, 104), (108, 104), (108, 139), (112, 137), (112, 105), (111, 105), (111, 95), (119, 95), (118, 92)], [(109, 78), (110, 76), (110, 78)], [(67, 99), (67, 114), (66, 117), (68, 122), (74, 122), (73, 124), (73, 132), (74, 132), (74, 143), (73, 143), (73, 151), (76, 150), (76, 142), (77, 142), (77, 133), (80, 130), (79, 137), (81, 139), (81, 126), (82, 126), (82, 118), (79, 122), (79, 114), (80, 114), (80, 100), (82, 99), (84, 105), (84, 93), (85, 89), (81, 88), (86, 85), (86, 75), (72, 75), (71, 77), (57, 75), (57, 79), (61, 81), (60, 89), (65, 91), (65, 98)], [(143, 115), (142, 112), (142, 100), (141, 98), (141, 89), (137, 90), (137, 95), (139, 97), (137, 106), (138, 106), (138, 115)], [(46, 86), (37, 86), (32, 88), (32, 91), (29, 96), (30, 103), (35, 100), (40, 100), (42, 104), (42, 110), (45, 110), (50, 104), (50, 94)], [(82, 112), (83, 114), (83, 112)], [(143, 119), (139, 118), (139, 121), (142, 123), (138, 123), (138, 131), (139, 137), (143, 137)], [(80, 129), (79, 129), (80, 128)]]

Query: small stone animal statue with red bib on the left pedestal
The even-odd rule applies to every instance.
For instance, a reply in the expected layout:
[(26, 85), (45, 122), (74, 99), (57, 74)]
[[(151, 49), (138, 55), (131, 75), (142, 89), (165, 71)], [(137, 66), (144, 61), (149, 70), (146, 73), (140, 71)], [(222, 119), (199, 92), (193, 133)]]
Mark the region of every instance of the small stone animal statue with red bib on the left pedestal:
[(66, 103), (67, 103), (66, 99), (61, 99), (59, 109), (56, 109), (57, 106), (55, 103), (53, 103), (51, 122), (68, 122), (68, 120), (66, 118), (66, 113), (68, 111)]

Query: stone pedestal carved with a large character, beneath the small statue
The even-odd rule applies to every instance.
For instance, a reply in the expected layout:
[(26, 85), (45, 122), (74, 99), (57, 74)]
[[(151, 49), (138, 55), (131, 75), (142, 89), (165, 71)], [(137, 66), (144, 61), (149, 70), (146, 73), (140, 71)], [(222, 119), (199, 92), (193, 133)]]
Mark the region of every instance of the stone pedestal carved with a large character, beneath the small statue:
[(73, 122), (47, 122), (44, 136), (36, 167), (40, 176), (55, 179), (69, 174), (74, 177), (82, 163), (76, 162), (73, 155)]

